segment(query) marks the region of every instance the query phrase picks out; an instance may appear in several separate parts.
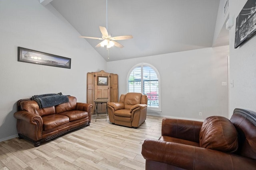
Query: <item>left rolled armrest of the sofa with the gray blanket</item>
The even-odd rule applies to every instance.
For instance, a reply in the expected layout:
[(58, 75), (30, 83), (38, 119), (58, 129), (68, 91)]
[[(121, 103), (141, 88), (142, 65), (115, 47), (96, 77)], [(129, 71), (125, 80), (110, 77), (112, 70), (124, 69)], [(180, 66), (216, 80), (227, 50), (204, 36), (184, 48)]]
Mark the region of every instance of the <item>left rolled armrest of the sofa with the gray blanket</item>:
[(14, 117), (16, 119), (26, 121), (30, 124), (38, 123), (41, 126), (43, 125), (43, 119), (40, 115), (36, 115), (36, 114), (30, 113), (28, 111), (17, 111), (14, 113)]

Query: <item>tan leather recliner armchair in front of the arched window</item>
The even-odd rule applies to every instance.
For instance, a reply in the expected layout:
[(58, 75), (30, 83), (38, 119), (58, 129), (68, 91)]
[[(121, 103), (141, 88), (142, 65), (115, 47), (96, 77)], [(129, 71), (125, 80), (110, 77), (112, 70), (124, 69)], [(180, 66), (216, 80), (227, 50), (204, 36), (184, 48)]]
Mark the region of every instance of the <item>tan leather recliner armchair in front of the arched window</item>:
[(139, 127), (147, 116), (148, 97), (141, 93), (127, 93), (119, 102), (108, 103), (108, 117), (113, 124)]

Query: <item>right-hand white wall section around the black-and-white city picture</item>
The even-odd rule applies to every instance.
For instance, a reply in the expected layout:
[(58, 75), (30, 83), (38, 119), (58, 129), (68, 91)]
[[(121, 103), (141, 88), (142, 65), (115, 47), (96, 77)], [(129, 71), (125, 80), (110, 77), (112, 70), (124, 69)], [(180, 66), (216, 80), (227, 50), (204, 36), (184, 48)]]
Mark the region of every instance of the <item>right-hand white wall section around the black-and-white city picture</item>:
[(234, 49), (236, 17), (247, 0), (230, 1), (230, 15), (234, 16), (234, 26), (230, 37), (230, 80), (234, 80), (234, 88), (230, 87), (230, 116), (235, 108), (256, 111), (256, 35)]

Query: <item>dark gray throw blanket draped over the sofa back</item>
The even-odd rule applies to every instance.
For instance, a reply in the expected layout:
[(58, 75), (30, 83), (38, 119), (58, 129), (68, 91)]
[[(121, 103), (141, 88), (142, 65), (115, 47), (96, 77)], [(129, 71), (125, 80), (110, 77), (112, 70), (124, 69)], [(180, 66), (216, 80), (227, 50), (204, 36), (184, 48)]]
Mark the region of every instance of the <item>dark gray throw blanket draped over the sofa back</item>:
[(68, 96), (58, 94), (41, 94), (32, 96), (31, 100), (35, 100), (39, 108), (56, 106), (68, 102)]

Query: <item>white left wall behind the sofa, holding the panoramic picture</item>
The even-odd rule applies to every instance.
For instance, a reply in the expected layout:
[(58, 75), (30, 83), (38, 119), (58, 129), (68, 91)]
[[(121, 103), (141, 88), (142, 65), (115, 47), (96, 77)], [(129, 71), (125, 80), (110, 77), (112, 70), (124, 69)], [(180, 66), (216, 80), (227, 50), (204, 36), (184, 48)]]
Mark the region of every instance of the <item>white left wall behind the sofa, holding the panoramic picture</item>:
[[(0, 1), (0, 141), (17, 135), (17, 101), (58, 93), (86, 102), (86, 74), (106, 61), (50, 5), (38, 0)], [(71, 69), (17, 61), (17, 47), (71, 58)]]

